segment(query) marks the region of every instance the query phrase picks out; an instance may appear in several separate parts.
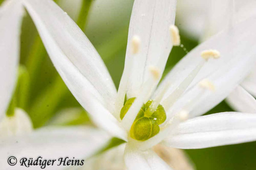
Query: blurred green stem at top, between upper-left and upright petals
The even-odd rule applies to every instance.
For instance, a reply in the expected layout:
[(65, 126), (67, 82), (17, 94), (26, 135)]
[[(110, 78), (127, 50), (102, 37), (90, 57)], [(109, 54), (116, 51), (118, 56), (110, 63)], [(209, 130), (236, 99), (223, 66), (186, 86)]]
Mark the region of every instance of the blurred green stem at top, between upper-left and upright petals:
[(89, 14), (90, 6), (92, 5), (93, 0), (83, 0), (82, 7), (79, 12), (78, 19), (76, 21), (77, 25), (84, 31), (87, 24), (87, 17)]

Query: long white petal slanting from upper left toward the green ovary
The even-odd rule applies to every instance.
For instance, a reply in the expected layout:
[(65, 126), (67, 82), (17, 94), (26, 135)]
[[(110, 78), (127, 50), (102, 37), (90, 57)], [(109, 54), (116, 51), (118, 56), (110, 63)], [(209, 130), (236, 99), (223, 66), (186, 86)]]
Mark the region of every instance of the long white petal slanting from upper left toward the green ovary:
[[(55, 68), (73, 95), (83, 88), (113, 111), (116, 89), (99, 54), (71, 18), (52, 0), (24, 0)], [(83, 94), (81, 96), (86, 96)], [(87, 102), (83, 97), (80, 102)], [(85, 108), (87, 109), (87, 108)]]

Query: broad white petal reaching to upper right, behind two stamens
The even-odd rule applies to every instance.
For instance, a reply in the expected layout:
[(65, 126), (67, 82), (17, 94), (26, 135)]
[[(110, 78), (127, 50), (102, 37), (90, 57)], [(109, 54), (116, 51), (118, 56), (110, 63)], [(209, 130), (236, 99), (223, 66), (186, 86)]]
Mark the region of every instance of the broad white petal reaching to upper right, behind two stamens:
[(201, 61), (201, 51), (205, 49), (217, 49), (221, 54), (219, 59), (209, 60), (203, 66), (189, 86), (189, 90), (175, 104), (176, 110), (174, 112), (180, 111), (182, 105), (186, 104), (189, 100), (193, 100), (198, 95), (201, 88), (198, 87), (197, 83), (204, 78), (211, 80), (216, 90), (215, 92), (206, 92), (202, 95), (201, 99), (195, 100), (195, 105), (193, 108), (190, 108), (192, 114), (195, 115), (200, 115), (213, 108), (244, 79), (253, 65), (255, 65), (256, 59), (256, 34), (253, 32), (256, 29), (256, 24), (252, 23), (256, 23), (255, 16), (237, 24), (232, 29), (224, 30), (220, 34), (215, 35), (210, 40), (207, 40), (192, 50), (175, 65), (159, 86), (159, 89), (161, 89), (165, 87), (166, 83), (172, 82), (164, 99), (198, 65)]

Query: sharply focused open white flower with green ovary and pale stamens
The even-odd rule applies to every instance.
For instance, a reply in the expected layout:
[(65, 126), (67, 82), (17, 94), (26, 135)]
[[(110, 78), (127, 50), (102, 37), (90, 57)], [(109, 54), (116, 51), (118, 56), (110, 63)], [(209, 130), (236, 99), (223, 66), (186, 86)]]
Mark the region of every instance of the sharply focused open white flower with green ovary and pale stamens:
[[(128, 170), (169, 170), (169, 165), (151, 149), (160, 142), (188, 149), (256, 140), (255, 114), (227, 112), (200, 116), (225, 99), (255, 65), (256, 16), (199, 45), (157, 87), (172, 49), (174, 37), (170, 35), (169, 27), (174, 25), (176, 1), (135, 0), (125, 68), (116, 92), (99, 54), (61, 8), (51, 0), (24, 0), (23, 4), (34, 20), (55, 68), (79, 103), (99, 127), (127, 142), (124, 159)], [(205, 59), (200, 57), (202, 51)], [(125, 94), (127, 99), (136, 99), (121, 120)], [(151, 124), (138, 124), (146, 130), (152, 126), (149, 128), (151, 133), (144, 140), (136, 140), (135, 135), (148, 135), (141, 129), (134, 131), (134, 123), (141, 119), (134, 120), (149, 99), (153, 102), (149, 112), (144, 114), (154, 112), (160, 103), (165, 109), (166, 120), (158, 125), (158, 118), (145, 117)], [(160, 115), (165, 114), (161, 112)], [(152, 136), (155, 127), (159, 132)], [(103, 134), (98, 130), (83, 130), (39, 130), (26, 139), (15, 139), (19, 141), (16, 147), (9, 143), (0, 153), (3, 156), (12, 153), (17, 157), (64, 154), (80, 158), (84, 154), (86, 158), (108, 136), (101, 138)]]

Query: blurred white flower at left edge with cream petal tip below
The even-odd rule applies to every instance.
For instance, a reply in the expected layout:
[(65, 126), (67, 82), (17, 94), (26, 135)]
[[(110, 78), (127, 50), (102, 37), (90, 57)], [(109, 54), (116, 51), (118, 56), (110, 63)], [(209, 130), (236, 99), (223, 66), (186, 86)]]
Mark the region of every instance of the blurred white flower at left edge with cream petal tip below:
[(0, 7), (0, 139), (32, 131), (29, 116), (22, 109), (16, 108), (12, 116), (6, 115), (17, 78), (22, 16), (20, 2), (6, 1)]

